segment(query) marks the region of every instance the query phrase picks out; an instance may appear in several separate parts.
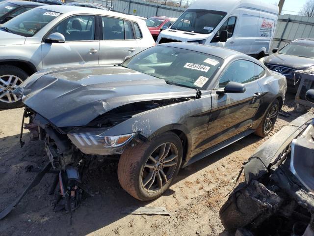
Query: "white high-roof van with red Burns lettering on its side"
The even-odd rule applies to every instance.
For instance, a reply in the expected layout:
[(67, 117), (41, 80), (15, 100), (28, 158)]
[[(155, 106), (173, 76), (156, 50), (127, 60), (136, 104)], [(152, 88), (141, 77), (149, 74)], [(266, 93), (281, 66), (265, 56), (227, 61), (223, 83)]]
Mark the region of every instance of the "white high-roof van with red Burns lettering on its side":
[(197, 0), (160, 32), (157, 43), (199, 43), (262, 58), (269, 54), (278, 12), (262, 0)]

